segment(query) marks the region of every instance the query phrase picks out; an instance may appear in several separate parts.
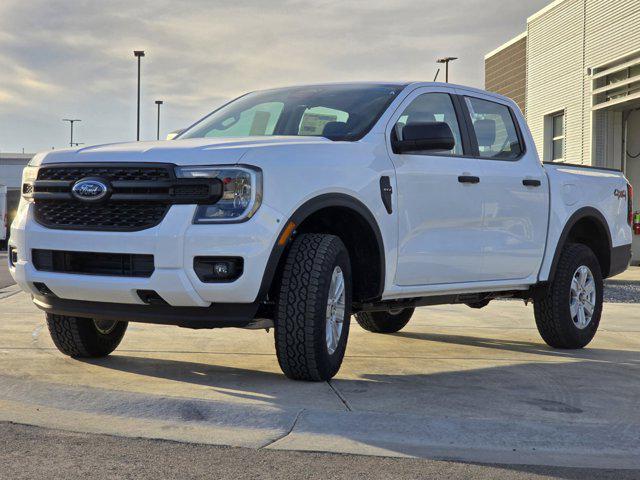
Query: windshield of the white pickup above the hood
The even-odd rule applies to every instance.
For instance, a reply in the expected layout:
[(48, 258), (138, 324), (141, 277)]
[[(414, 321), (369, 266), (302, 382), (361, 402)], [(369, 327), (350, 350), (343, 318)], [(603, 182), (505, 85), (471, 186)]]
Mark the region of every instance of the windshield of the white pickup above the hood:
[(244, 95), (179, 138), (320, 136), (355, 141), (378, 121), (404, 85), (314, 85)]

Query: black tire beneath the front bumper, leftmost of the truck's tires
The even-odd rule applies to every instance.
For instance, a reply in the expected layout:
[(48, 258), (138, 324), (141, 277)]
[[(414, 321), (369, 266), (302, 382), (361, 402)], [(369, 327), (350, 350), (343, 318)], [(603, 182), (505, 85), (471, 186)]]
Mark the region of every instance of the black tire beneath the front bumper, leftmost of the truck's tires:
[(118, 347), (128, 324), (47, 313), (47, 326), (53, 343), (65, 355), (98, 358)]

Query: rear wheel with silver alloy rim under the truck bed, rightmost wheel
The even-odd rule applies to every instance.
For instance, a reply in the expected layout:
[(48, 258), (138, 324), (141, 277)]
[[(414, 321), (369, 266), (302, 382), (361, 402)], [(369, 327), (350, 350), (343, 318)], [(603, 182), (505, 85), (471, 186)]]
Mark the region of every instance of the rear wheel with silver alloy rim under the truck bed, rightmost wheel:
[(582, 244), (565, 246), (553, 281), (534, 300), (542, 339), (553, 348), (585, 347), (598, 330), (602, 302), (602, 271), (593, 251)]

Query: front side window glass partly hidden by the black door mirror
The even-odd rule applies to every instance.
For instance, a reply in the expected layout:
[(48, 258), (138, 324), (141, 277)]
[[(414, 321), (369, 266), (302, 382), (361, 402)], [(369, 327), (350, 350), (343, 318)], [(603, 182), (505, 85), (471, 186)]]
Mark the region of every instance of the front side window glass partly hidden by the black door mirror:
[(446, 93), (425, 93), (417, 97), (398, 119), (395, 134), (402, 140), (402, 130), (411, 123), (444, 122), (449, 125), (456, 141), (452, 150), (442, 152), (449, 155), (463, 155), (462, 137), (458, 118), (451, 97)]

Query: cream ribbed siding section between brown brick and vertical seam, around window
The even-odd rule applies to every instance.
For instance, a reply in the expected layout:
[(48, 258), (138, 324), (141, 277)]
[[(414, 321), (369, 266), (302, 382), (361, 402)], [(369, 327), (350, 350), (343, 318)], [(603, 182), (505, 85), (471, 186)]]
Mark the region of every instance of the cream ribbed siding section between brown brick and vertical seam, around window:
[(584, 0), (566, 0), (528, 24), (527, 121), (539, 152), (544, 118), (565, 111), (565, 161), (582, 163)]

